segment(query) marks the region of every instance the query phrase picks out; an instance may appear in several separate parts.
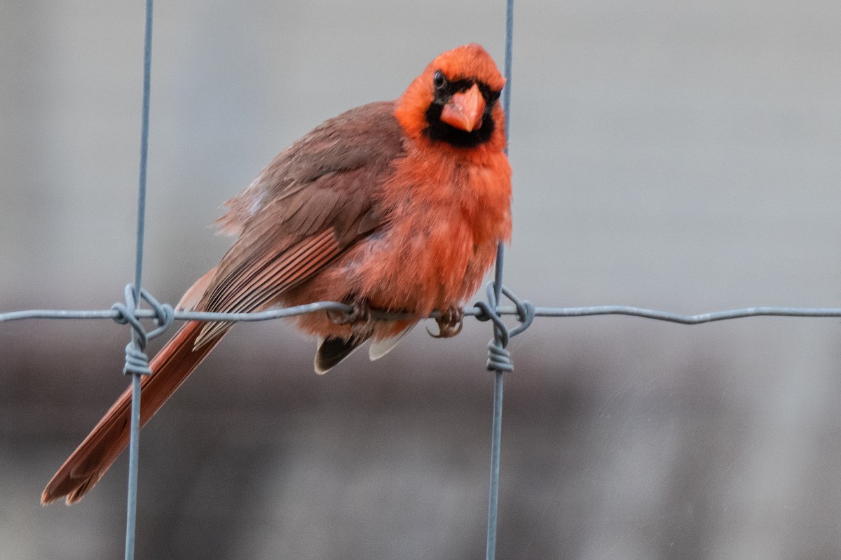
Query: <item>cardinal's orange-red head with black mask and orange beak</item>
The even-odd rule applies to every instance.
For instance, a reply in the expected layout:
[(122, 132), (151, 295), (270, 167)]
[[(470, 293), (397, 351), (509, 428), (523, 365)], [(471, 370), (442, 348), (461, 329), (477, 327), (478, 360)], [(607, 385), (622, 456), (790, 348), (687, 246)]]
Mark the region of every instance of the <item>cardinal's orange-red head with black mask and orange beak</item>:
[(432, 60), (397, 102), (395, 116), (415, 139), (458, 148), (505, 145), (498, 101), (505, 78), (481, 45), (448, 50)]

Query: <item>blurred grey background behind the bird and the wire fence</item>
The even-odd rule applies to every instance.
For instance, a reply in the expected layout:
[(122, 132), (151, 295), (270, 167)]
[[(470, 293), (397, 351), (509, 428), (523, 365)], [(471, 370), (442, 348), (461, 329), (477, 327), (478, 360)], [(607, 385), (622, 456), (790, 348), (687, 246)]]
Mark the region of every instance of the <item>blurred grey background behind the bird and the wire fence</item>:
[[(503, 2), (158, 2), (145, 286), (325, 118), (399, 96)], [(0, 3), (0, 311), (108, 308), (132, 278), (141, 2)], [(506, 283), (545, 306), (841, 306), (841, 3), (516, 6)], [(324, 377), (235, 328), (143, 432), (140, 558), (479, 558), (486, 323)], [(121, 557), (122, 457), (38, 504), (127, 381), (128, 329), (0, 325), (0, 558)], [(161, 341), (156, 341), (158, 348)], [(511, 345), (499, 558), (841, 557), (841, 323), (542, 319)]]

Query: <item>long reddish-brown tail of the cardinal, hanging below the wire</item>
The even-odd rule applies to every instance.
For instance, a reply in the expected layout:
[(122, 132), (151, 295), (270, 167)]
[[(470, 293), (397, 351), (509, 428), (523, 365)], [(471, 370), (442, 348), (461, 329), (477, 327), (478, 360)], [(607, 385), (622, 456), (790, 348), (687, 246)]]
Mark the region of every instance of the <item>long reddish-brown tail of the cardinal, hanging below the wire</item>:
[[(193, 348), (203, 324), (186, 323), (152, 359), (150, 368), (153, 373), (144, 376), (141, 382), (141, 427), (163, 406), (184, 379), (193, 373), (193, 369), (201, 364), (227, 331), (225, 329), (199, 348)], [(61, 465), (44, 489), (41, 504), (49, 504), (64, 496), (67, 505), (74, 504), (97, 484), (114, 459), (129, 444), (130, 411), (131, 387), (120, 395), (85, 441)]]

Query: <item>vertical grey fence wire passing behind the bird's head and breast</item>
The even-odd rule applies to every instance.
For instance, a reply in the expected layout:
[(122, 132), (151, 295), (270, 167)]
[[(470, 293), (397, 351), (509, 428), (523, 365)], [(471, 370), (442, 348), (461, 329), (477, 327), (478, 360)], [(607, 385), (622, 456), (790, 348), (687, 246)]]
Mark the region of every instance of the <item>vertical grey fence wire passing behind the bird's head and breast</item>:
[[(514, 39), (514, 0), (505, 2), (505, 89), (502, 91), (502, 109), (505, 113), (505, 154), (508, 154), (508, 139), (510, 138), (511, 122), (511, 58)], [(500, 301), (502, 294), (502, 270), (505, 249), (502, 243), (496, 250), (496, 268), (494, 271), (495, 301)], [(500, 342), (499, 329), (494, 329), (494, 338)], [(490, 435), (490, 476), (488, 488), (488, 531), (485, 542), (485, 560), (496, 557), (496, 526), (497, 512), (500, 501), (500, 444), (502, 442), (502, 395), (505, 385), (505, 372), (496, 369), (494, 372), (494, 412), (491, 422)]]

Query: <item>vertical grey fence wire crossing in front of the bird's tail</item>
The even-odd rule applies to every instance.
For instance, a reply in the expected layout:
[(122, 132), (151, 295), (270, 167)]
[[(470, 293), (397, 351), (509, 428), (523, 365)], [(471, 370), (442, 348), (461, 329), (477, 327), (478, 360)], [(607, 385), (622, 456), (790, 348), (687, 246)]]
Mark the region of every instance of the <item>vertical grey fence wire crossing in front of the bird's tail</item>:
[[(146, 163), (149, 156), (149, 98), (151, 95), (152, 60), (152, 0), (145, 3), (145, 33), (143, 37), (143, 107), (140, 115), (140, 173), (137, 187), (137, 244), (135, 251), (135, 302), (142, 300), (143, 242), (146, 212)], [(132, 342), (137, 345), (140, 335), (134, 330)], [(125, 560), (134, 560), (137, 525), (137, 472), (140, 452), (140, 373), (131, 373), (131, 426), (129, 437), (129, 482), (125, 515)]]

